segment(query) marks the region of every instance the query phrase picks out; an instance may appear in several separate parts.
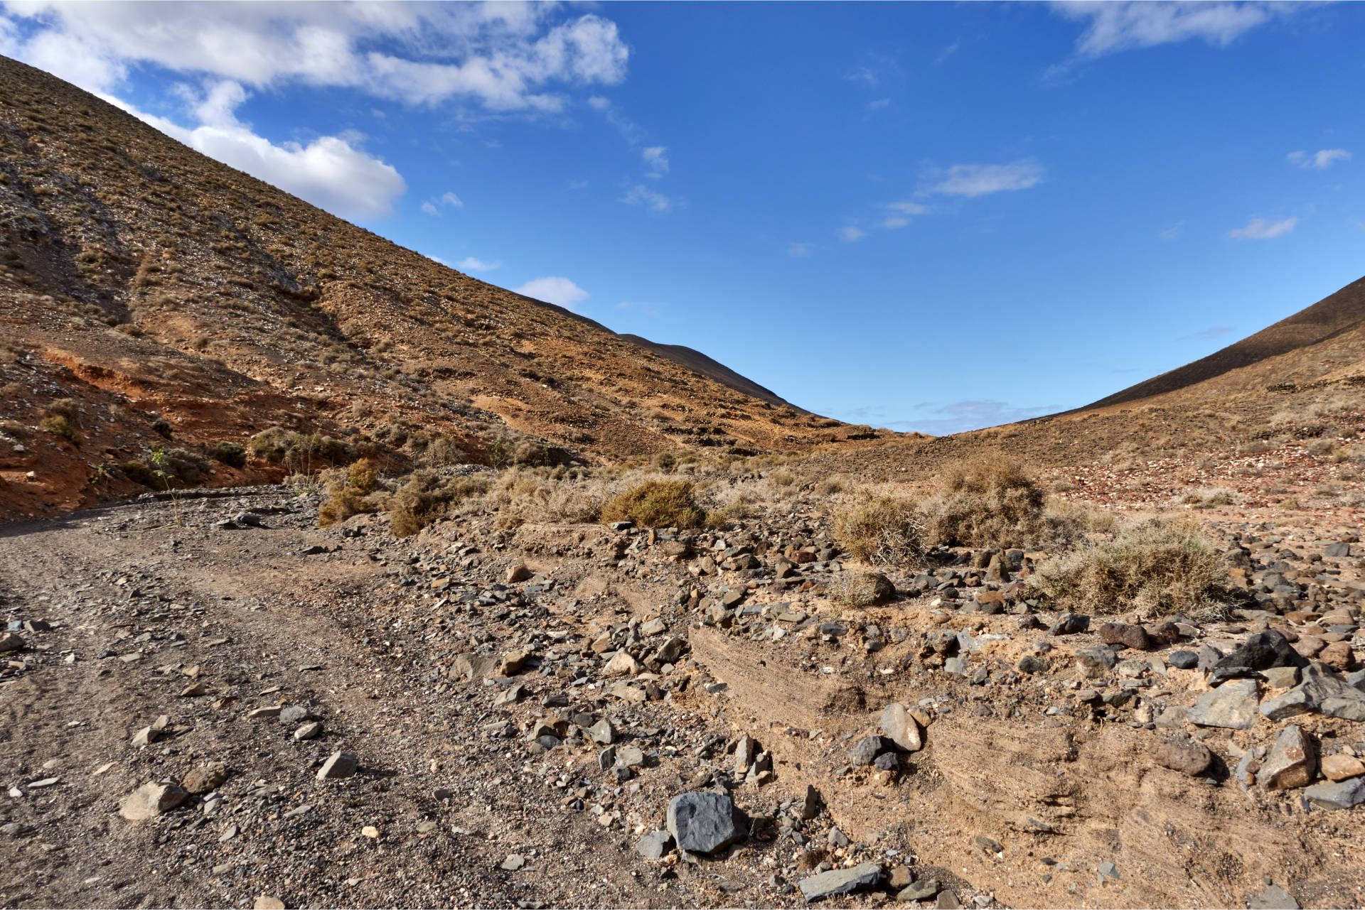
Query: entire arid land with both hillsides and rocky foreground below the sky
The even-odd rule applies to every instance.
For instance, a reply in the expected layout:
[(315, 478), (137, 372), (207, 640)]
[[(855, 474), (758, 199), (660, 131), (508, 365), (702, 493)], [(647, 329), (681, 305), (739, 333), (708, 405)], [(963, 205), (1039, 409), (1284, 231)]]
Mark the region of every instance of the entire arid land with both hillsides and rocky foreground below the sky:
[(1365, 280), (897, 434), (7, 59), (0, 235), (3, 906), (1365, 900)]

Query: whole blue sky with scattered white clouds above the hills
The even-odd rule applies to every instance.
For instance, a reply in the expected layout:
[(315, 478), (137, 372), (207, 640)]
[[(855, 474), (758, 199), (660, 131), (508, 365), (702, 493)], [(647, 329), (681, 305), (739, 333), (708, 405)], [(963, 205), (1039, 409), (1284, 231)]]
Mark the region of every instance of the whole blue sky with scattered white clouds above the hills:
[(1362, 41), (1361, 4), (0, 11), (0, 53), (405, 247), (928, 432), (1360, 278)]

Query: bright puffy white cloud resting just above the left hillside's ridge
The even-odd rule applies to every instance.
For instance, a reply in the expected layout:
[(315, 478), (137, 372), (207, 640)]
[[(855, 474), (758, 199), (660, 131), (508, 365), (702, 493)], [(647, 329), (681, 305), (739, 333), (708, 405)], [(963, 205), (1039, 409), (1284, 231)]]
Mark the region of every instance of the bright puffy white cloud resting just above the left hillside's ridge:
[(343, 218), (386, 218), (393, 214), (393, 202), (408, 191), (393, 165), (352, 146), (354, 136), (274, 145), (257, 135), (232, 113), (246, 98), (242, 86), (232, 82), (213, 86), (198, 101), (194, 112), (199, 126), (192, 128), (102, 97), (172, 139)]

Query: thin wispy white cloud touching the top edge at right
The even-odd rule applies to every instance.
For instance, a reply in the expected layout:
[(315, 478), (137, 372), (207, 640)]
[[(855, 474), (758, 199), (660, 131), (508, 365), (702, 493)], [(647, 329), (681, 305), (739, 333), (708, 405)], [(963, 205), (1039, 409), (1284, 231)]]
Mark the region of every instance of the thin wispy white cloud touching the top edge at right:
[(1095, 0), (1054, 3), (1052, 11), (1085, 23), (1085, 31), (1076, 41), (1076, 56), (1093, 60), (1107, 53), (1192, 38), (1226, 46), (1275, 15), (1287, 15), (1293, 4)]

